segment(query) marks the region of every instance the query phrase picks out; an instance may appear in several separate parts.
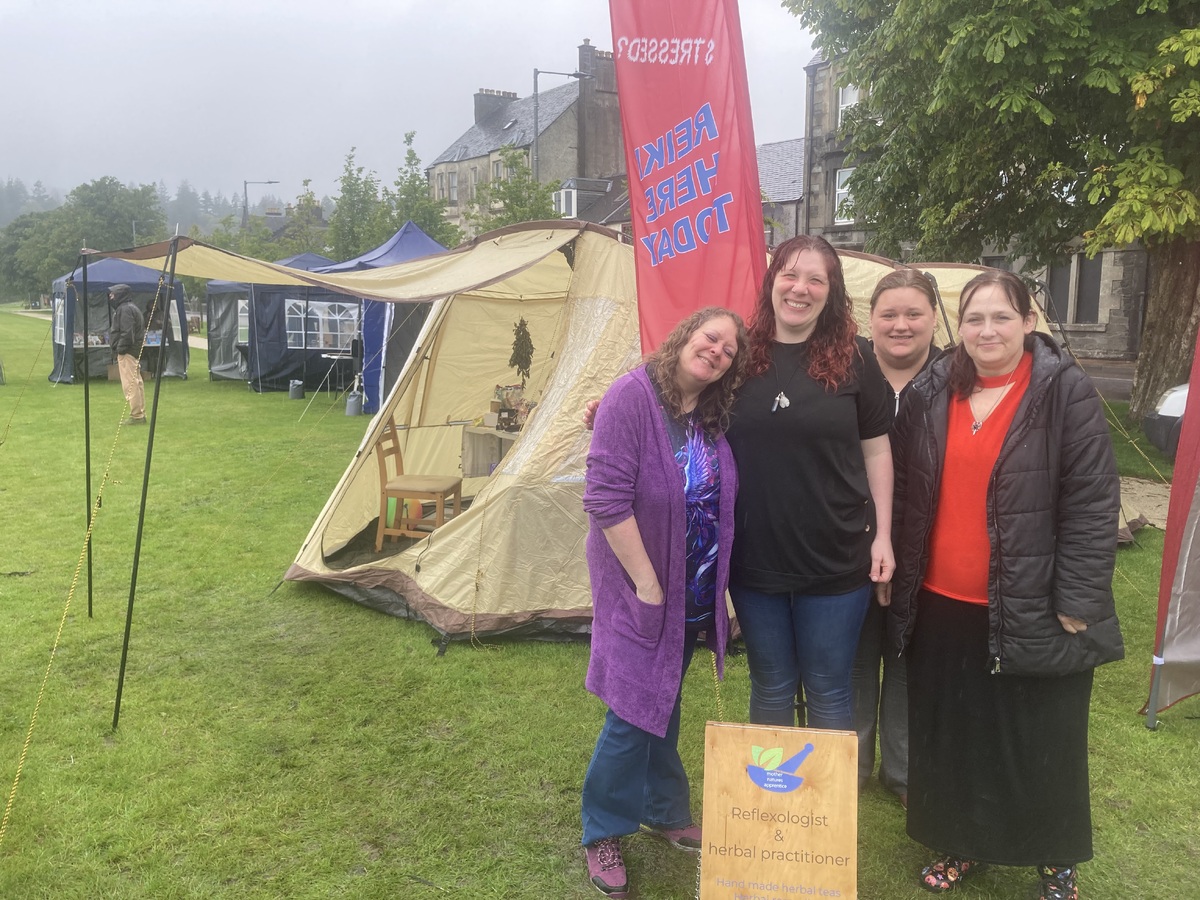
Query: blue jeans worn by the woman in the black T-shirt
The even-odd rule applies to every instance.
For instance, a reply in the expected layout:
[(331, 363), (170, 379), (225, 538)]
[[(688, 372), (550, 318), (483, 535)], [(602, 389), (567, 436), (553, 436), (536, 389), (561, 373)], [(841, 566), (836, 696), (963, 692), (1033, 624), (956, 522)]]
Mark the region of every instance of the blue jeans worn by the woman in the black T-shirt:
[(846, 594), (762, 594), (731, 586), (750, 664), (750, 721), (796, 725), (804, 688), (808, 727), (853, 731), (850, 672), (871, 584)]

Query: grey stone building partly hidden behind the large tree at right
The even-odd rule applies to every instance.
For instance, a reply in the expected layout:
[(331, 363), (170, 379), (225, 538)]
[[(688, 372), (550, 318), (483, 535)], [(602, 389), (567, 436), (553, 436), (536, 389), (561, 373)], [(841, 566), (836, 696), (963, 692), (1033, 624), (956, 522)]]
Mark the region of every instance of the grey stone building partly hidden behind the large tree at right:
[[(823, 235), (835, 247), (863, 250), (869, 233), (848, 205), (846, 144), (838, 137), (846, 109), (858, 102), (854, 85), (838, 85), (836, 62), (821, 54), (804, 67), (805, 196), (800, 230)], [(1147, 289), (1147, 258), (1140, 246), (1106, 250), (1088, 259), (1076, 252), (1056, 265), (1032, 272), (1002, 250), (979, 260), (1031, 276), (1052, 326), (1081, 358), (1135, 359)]]

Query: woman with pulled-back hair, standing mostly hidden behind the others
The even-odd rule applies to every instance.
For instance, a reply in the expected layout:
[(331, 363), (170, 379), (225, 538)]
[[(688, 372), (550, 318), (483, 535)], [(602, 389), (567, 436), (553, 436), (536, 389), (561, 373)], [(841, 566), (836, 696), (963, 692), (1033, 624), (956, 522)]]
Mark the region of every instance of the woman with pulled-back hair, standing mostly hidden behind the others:
[[(871, 346), (887, 379), (893, 409), (942, 352), (934, 346), (937, 294), (916, 269), (896, 269), (880, 278), (871, 294)], [(908, 679), (904, 658), (887, 644), (887, 607), (871, 604), (854, 656), (854, 731), (858, 732), (858, 784), (875, 768), (880, 743), (880, 784), (908, 803)], [(882, 666), (882, 676), (881, 676)]]

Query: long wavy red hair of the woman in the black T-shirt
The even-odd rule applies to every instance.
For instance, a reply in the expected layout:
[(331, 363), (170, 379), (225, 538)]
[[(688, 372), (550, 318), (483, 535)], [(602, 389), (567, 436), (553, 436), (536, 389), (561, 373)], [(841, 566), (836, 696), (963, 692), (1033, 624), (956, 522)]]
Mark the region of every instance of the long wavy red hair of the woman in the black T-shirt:
[(829, 276), (829, 296), (824, 308), (817, 317), (816, 326), (809, 336), (809, 376), (821, 382), (827, 390), (836, 390), (848, 378), (854, 365), (858, 348), (854, 335), (858, 325), (850, 308), (850, 296), (846, 294), (846, 276), (841, 271), (841, 259), (824, 238), (800, 234), (790, 238), (775, 248), (758, 290), (758, 302), (755, 305), (750, 320), (750, 368), (748, 374), (762, 374), (770, 367), (770, 346), (775, 340), (775, 307), (772, 304), (772, 292), (775, 277), (787, 265), (787, 260), (797, 253), (811, 250), (821, 254)]

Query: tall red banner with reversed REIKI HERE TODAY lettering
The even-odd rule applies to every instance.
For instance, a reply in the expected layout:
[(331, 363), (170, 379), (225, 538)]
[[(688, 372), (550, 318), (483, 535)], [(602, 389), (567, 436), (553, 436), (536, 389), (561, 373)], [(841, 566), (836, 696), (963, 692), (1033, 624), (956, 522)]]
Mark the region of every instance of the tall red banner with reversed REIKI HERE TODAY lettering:
[(737, 0), (610, 0), (642, 350), (767, 270)]

